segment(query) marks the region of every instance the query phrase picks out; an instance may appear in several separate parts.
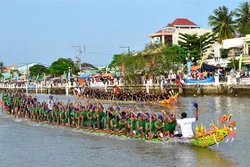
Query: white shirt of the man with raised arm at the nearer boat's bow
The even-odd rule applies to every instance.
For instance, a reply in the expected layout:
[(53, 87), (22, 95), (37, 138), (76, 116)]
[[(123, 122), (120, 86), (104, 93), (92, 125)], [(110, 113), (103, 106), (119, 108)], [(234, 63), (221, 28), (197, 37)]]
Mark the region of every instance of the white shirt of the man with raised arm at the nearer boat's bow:
[(194, 136), (192, 123), (195, 121), (195, 118), (177, 119), (177, 124), (181, 126), (181, 133), (183, 137), (189, 138)]

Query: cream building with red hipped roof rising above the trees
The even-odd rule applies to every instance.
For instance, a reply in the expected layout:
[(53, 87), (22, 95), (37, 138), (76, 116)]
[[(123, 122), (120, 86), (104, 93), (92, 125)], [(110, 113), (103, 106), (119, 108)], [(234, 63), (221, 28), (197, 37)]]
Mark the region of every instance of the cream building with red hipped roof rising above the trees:
[(169, 46), (177, 45), (181, 40), (179, 34), (197, 34), (203, 35), (212, 32), (210, 29), (203, 29), (201, 26), (186, 18), (177, 18), (172, 23), (167, 24), (159, 31), (149, 34), (152, 43), (168, 44)]

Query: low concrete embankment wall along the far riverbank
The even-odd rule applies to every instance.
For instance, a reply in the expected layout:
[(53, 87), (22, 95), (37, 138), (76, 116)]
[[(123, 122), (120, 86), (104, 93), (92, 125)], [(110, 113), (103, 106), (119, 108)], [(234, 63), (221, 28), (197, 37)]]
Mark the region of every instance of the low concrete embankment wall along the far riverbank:
[[(13, 92), (23, 92), (23, 93), (43, 93), (43, 94), (73, 94), (72, 90), (74, 87), (42, 87), (42, 88), (32, 88), (28, 89), (25, 87), (9, 87), (0, 88), (0, 91), (11, 90)], [(94, 88), (97, 89), (97, 88)], [(98, 89), (104, 90), (105, 88), (99, 87)], [(113, 91), (113, 86), (108, 86), (107, 91)], [(121, 91), (139, 91), (146, 90), (144, 85), (136, 86), (120, 86)], [(159, 85), (152, 85), (149, 88), (150, 93), (160, 92)], [(202, 96), (202, 95), (226, 95), (226, 96), (250, 96), (250, 85), (248, 84), (195, 84), (195, 85), (183, 85), (183, 87), (178, 87), (176, 85), (168, 85), (164, 87), (165, 91), (174, 90), (178, 92), (180, 96)]]

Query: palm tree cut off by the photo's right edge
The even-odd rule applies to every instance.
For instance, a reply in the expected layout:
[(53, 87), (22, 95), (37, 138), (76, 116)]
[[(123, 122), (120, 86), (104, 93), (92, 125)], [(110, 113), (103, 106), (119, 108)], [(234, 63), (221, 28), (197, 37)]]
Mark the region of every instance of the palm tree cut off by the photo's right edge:
[(250, 33), (250, 2), (242, 2), (235, 9), (236, 21), (238, 23), (238, 32), (241, 35)]

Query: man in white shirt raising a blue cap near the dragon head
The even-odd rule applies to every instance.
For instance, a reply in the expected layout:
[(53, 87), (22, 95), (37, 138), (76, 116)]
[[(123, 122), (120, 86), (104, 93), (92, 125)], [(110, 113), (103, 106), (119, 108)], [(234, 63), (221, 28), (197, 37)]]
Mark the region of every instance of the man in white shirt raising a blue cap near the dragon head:
[(195, 107), (195, 118), (187, 118), (187, 113), (181, 113), (181, 119), (177, 119), (178, 127), (181, 128), (182, 137), (192, 138), (194, 132), (192, 130), (192, 123), (198, 120), (198, 104), (194, 103)]

